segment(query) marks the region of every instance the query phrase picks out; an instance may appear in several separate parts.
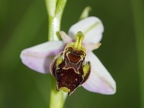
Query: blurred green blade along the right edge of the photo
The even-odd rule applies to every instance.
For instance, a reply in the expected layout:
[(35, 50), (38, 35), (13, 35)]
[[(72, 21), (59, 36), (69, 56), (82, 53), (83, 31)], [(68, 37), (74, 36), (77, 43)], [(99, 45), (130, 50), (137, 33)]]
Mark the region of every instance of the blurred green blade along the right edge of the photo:
[(142, 0), (132, 0), (133, 20), (138, 54), (141, 108), (144, 108), (144, 7)]

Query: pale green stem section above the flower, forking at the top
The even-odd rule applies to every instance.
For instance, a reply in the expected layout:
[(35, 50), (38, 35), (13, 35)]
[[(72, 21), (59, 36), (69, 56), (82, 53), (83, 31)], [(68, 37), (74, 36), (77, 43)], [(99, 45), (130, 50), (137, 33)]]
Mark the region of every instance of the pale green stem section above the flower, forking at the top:
[[(52, 1), (52, 2), (51, 2)], [(57, 32), (60, 31), (61, 18), (65, 8), (67, 0), (46, 0), (47, 12), (48, 12), (48, 40), (57, 41), (60, 37)], [(54, 5), (55, 3), (55, 5)]]

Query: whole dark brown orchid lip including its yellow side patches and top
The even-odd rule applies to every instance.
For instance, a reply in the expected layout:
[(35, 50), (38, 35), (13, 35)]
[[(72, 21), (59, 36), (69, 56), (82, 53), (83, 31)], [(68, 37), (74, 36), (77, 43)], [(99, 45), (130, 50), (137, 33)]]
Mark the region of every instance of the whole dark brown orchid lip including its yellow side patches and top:
[[(81, 36), (81, 34), (77, 35)], [(62, 89), (70, 95), (87, 80), (91, 66), (90, 62), (85, 61), (85, 57), (85, 48), (79, 43), (77, 45), (76, 40), (67, 44), (64, 51), (54, 58), (50, 71), (56, 78), (57, 90)]]

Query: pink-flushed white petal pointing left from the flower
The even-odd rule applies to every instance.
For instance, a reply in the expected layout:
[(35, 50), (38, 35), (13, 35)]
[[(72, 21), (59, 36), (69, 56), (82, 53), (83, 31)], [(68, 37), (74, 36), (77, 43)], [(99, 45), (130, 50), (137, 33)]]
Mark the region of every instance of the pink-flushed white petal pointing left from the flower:
[(62, 46), (62, 41), (45, 42), (23, 50), (20, 58), (29, 68), (40, 73), (48, 73), (50, 62), (60, 52)]

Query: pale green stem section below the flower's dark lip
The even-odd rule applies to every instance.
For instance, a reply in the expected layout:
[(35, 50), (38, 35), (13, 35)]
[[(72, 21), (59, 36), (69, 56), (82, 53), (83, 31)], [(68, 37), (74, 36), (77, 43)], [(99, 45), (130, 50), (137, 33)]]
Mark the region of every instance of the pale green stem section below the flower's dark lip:
[(67, 93), (62, 90), (56, 90), (56, 81), (53, 76), (51, 76), (51, 82), (50, 108), (63, 108)]

